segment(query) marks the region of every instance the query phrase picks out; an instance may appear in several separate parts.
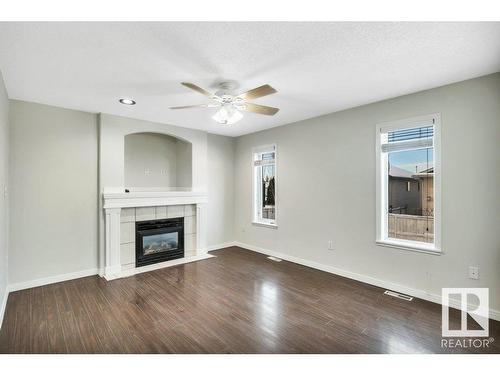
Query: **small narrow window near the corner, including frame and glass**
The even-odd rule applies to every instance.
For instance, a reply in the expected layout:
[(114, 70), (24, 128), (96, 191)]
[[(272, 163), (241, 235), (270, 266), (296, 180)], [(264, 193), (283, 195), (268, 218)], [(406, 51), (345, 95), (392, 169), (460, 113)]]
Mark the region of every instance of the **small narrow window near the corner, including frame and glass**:
[(253, 222), (276, 225), (276, 146), (253, 150)]

